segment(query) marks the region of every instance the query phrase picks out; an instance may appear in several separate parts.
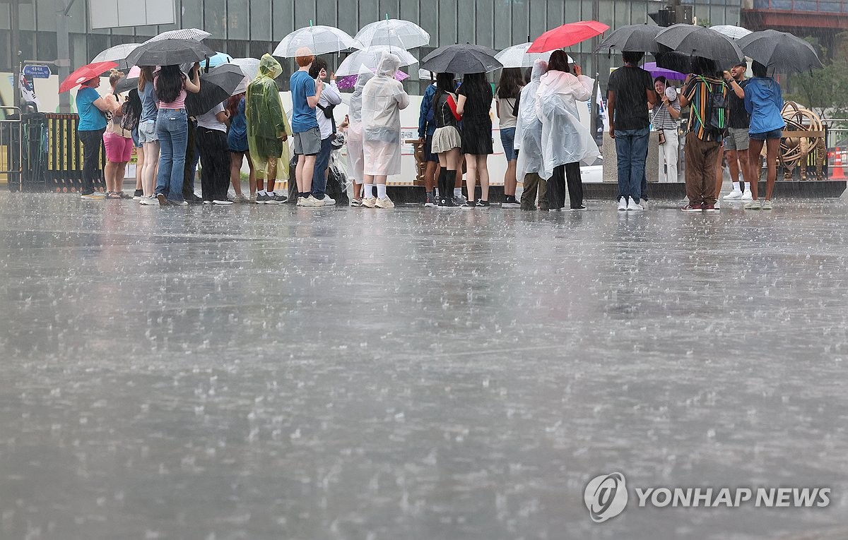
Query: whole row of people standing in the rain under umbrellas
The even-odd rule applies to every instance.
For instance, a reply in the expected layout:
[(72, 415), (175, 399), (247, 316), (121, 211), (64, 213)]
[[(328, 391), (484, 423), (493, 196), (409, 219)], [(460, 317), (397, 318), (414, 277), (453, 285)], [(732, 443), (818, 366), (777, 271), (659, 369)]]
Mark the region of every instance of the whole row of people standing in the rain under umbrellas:
[[(650, 129), (659, 139), (659, 180), (678, 181), (678, 152), (683, 144), (686, 212), (717, 212), (726, 158), (734, 187), (725, 200), (741, 199), (746, 209), (773, 208), (776, 157), (784, 129), (780, 86), (766, 67), (753, 63), (719, 71), (706, 58), (694, 58), (692, 74), (678, 91), (662, 76), (639, 67), (640, 52), (624, 52), (622, 68), (607, 88), (609, 134), (615, 141), (621, 211), (644, 210), (645, 163)], [(291, 121), (282, 105), (276, 78), (282, 66), (269, 54), (259, 74), (209, 111), (190, 117), (189, 93), (201, 90), (200, 65), (188, 74), (179, 66), (142, 66), (137, 88), (120, 96), (115, 85), (124, 76), (113, 70), (111, 92), (101, 96), (100, 79), (82, 84), (76, 104), (84, 147), (83, 199), (130, 197), (122, 189), (132, 148), (137, 149), (137, 185), (132, 198), (144, 205), (192, 202), (280, 204), (288, 200), (282, 182), (295, 154), (294, 182), (299, 207), (335, 205), (326, 193), (332, 150), (347, 145), (353, 207), (393, 208), (388, 176), (400, 173), (400, 111), (410, 97), (394, 74), (398, 56), (385, 52), (376, 69), (361, 69), (349, 99), (349, 113), (337, 124), (334, 107), (342, 103), (335, 74), (307, 48), (294, 58), (298, 69), (289, 80)], [(559, 210), (567, 201), (583, 210), (581, 164), (600, 156), (594, 136), (580, 120), (577, 102), (592, 97), (594, 80), (557, 50), (537, 60), (525, 78), (522, 69), (505, 68), (497, 85), (486, 74), (434, 74), (421, 100), (418, 135), (424, 148), (425, 207), (490, 207), (488, 157), (493, 152), (490, 114), (494, 101), (507, 168), (501, 207)], [(689, 122), (678, 136), (683, 110)], [(341, 136), (340, 136), (341, 135)], [(289, 138), (292, 139), (291, 149)], [(105, 149), (104, 194), (95, 192), (100, 141)], [(760, 154), (766, 147), (767, 190), (757, 193)], [(248, 194), (241, 185), (247, 157)], [(201, 196), (193, 180), (201, 166)], [(463, 195), (463, 177), (465, 195)], [(516, 185), (522, 182), (521, 201)], [(235, 196), (228, 198), (232, 184)], [(477, 197), (477, 185), (480, 196)]]

